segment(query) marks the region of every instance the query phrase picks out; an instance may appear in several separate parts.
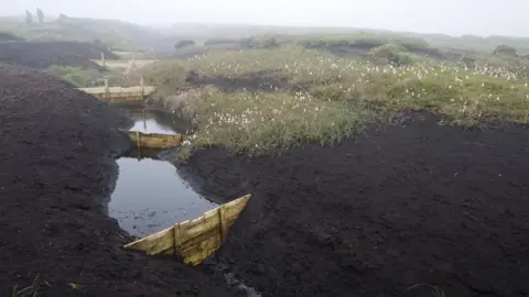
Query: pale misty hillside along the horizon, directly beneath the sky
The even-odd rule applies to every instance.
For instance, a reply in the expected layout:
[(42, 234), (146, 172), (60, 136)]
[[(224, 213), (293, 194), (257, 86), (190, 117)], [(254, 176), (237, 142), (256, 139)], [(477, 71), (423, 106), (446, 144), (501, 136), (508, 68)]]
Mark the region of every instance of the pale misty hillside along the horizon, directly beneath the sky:
[[(147, 28), (119, 20), (87, 18), (52, 19), (44, 23), (26, 25), (24, 16), (0, 16), (0, 31), (11, 32), (26, 40), (62, 40), (104, 43), (112, 50), (171, 51), (179, 40), (194, 40), (198, 44), (213, 38), (244, 38), (250, 36), (306, 36), (306, 35), (365, 35), (376, 38), (412, 38), (428, 42), (441, 50), (492, 52), (500, 44), (529, 53), (529, 37), (510, 36), (451, 36), (420, 34), (361, 28), (301, 28), (277, 25), (175, 23), (165, 28)], [(1, 38), (1, 37), (0, 37)]]

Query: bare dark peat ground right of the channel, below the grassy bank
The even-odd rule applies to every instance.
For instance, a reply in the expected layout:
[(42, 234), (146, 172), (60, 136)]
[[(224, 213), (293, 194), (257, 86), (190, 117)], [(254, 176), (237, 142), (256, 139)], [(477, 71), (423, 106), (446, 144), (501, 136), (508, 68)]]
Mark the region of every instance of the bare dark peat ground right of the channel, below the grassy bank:
[(528, 150), (527, 128), (414, 113), (336, 147), (198, 151), (185, 170), (253, 193), (217, 262), (263, 296), (510, 297), (529, 295)]

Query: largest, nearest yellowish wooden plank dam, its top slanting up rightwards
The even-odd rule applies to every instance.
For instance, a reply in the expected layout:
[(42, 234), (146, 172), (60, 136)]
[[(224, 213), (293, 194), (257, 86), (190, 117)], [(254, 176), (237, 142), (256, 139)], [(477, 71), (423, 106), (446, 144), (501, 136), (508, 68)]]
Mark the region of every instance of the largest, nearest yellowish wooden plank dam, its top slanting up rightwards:
[(202, 217), (142, 238), (123, 248), (148, 255), (176, 255), (186, 264), (198, 265), (226, 241), (251, 194), (205, 212)]

